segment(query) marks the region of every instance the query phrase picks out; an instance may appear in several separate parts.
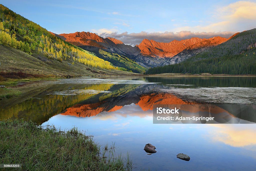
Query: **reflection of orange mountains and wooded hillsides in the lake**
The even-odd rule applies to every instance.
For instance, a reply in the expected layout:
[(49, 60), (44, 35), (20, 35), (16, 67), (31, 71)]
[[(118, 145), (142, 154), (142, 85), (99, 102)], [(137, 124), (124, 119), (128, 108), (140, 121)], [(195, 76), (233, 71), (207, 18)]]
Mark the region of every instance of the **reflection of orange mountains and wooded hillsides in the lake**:
[[(59, 113), (62, 115), (88, 117), (104, 111), (120, 110), (124, 105), (132, 103), (140, 106), (143, 111), (152, 110), (154, 104), (193, 104), (195, 108), (201, 110), (199, 109), (200, 106), (197, 106), (197, 104), (205, 103), (201, 97), (197, 99), (192, 96), (193, 98), (188, 99), (188, 93), (184, 96), (182, 94), (196, 89), (191, 89), (190, 86), (227, 86), (228, 82), (233, 87), (244, 86), (243, 89), (246, 89), (244, 93), (251, 93), (251, 101), (255, 104), (256, 100), (253, 97), (256, 93), (254, 92), (255, 83), (253, 83), (253, 80), (255, 78), (111, 77), (111, 79), (92, 79), (89, 77), (39, 81), (18, 87), (17, 89), (26, 89), (27, 91), (21, 97), (2, 100), (0, 118), (23, 118), (40, 124)], [(92, 84), (92, 82), (95, 84)], [(246, 86), (253, 88), (246, 88)], [(228, 89), (226, 88), (225, 92), (228, 93), (227, 91)], [(211, 91), (207, 93), (208, 96), (211, 95)], [(240, 96), (243, 95), (243, 91), (237, 91), (236, 93), (239, 93)], [(193, 94), (193, 92), (190, 94)], [(216, 95), (216, 90), (212, 94)], [(233, 96), (236, 96), (234, 92)], [(223, 102), (223, 98), (221, 98), (221, 102)], [(250, 117), (241, 114), (235, 115), (232, 109), (225, 107), (225, 105), (217, 106), (219, 106), (217, 107), (218, 112), (227, 112), (241, 119), (256, 122), (253, 114)], [(239, 104), (236, 106), (239, 107)], [(246, 114), (255, 113), (255, 108), (255, 105), (251, 105)], [(187, 111), (195, 112), (195, 109), (187, 109)]]

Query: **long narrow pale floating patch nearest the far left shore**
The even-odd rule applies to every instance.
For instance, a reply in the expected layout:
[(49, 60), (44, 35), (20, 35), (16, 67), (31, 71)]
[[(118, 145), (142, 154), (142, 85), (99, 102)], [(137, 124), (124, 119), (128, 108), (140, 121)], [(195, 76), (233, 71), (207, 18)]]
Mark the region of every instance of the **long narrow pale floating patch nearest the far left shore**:
[(99, 78), (73, 78), (61, 79), (56, 84), (156, 84), (155, 82), (146, 82), (141, 80), (112, 80)]

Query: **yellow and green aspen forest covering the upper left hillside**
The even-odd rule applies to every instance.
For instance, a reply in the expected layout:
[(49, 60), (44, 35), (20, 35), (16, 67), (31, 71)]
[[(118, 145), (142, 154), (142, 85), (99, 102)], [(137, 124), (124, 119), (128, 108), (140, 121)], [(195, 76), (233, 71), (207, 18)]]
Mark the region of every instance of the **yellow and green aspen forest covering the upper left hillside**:
[[(0, 44), (3, 46), (3, 48), (12, 47), (14, 49), (24, 51), (28, 55), (31, 55), (35, 58), (48, 61), (47, 65), (50, 65), (50, 63), (59, 62), (63, 70), (66, 70), (64, 65), (64, 63), (66, 63), (65, 61), (70, 62), (69, 66), (76, 65), (82, 67), (82, 70), (91, 68), (88, 70), (95, 70), (95, 72), (99, 69), (119, 69), (118, 67), (113, 66), (110, 62), (98, 58), (97, 56), (95, 56), (95, 54), (83, 50), (77, 46), (74, 46), (66, 41), (63, 41), (62, 39), (56, 37), (55, 34), (48, 32), (45, 28), (42, 28), (38, 24), (22, 17), (21, 15), (16, 14), (12, 10), (8, 9), (7, 7), (1, 4), (0, 15)], [(97, 37), (97, 35), (95, 35), (95, 37)], [(98, 39), (98, 41), (100, 41), (100, 38)], [(12, 53), (6, 55), (11, 54)], [(2, 55), (1, 58), (4, 58), (5, 56)], [(45, 60), (44, 58), (48, 59)], [(16, 65), (14, 65), (14, 67), (7, 67), (8, 70), (7, 68), (5, 68), (5, 71), (14, 72), (15, 67), (18, 67), (17, 65), (21, 63), (22, 61), (20, 61), (20, 63), (16, 62)], [(79, 65), (77, 65), (78, 63)], [(26, 68), (26, 66), (23, 67)], [(21, 69), (22, 67), (18, 68)], [(72, 69), (72, 67), (70, 69)], [(61, 69), (59, 71), (61, 72)], [(70, 72), (73, 71), (70, 70)], [(86, 74), (88, 72), (81, 73)], [(90, 74), (90, 72), (88, 74)]]

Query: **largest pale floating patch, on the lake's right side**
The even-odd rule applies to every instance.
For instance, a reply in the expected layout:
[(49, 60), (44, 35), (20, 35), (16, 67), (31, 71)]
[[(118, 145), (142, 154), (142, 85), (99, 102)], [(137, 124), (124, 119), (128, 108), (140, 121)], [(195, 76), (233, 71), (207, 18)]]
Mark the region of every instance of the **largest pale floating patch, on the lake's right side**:
[(186, 101), (207, 103), (256, 104), (256, 88), (200, 87), (186, 89), (160, 89)]

